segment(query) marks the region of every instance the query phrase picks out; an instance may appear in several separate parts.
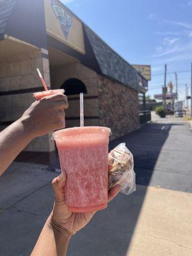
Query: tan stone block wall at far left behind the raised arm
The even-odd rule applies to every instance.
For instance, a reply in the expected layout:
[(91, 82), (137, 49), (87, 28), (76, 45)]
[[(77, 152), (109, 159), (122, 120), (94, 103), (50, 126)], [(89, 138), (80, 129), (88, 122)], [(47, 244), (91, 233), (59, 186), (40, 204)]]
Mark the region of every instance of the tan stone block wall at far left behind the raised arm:
[[(42, 87), (36, 73), (40, 68), (45, 81), (50, 86), (49, 60), (43, 58), (46, 50), (34, 50), (16, 56), (0, 56), (0, 131), (6, 125), (14, 122), (34, 101), (33, 88)], [(48, 53), (48, 52), (47, 52)], [(24, 89), (31, 89), (29, 93), (22, 93)], [(18, 91), (12, 93), (12, 91)], [(42, 88), (43, 90), (43, 88)], [(8, 92), (8, 95), (6, 93)], [(49, 140), (49, 135), (33, 140), (25, 151), (51, 152), (54, 142)]]

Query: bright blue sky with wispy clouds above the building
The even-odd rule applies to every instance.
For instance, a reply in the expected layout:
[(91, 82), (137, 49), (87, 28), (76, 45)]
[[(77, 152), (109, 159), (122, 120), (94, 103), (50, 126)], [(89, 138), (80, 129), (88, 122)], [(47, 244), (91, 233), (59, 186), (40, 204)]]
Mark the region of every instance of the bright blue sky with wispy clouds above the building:
[(190, 86), (192, 62), (192, 0), (62, 0), (108, 45), (131, 64), (152, 66), (149, 95), (161, 93), (164, 64), (167, 81), (179, 99)]

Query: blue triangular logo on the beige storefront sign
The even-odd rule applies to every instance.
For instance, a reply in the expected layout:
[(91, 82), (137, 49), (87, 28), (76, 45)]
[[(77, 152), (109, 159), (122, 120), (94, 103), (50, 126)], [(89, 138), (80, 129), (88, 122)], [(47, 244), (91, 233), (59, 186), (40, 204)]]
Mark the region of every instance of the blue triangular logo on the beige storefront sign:
[(72, 26), (72, 15), (70, 14), (70, 12), (67, 12), (67, 10), (58, 5), (55, 0), (51, 0), (51, 5), (57, 19), (60, 22), (63, 34), (67, 40), (70, 28)]

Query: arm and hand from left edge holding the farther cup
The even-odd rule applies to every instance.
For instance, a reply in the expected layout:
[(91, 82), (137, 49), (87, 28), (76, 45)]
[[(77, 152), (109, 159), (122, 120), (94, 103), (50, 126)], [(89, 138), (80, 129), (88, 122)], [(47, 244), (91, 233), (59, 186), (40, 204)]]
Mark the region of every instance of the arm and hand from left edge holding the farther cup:
[(0, 176), (28, 143), (38, 136), (64, 127), (65, 95), (51, 95), (35, 101), (12, 125), (0, 132)]

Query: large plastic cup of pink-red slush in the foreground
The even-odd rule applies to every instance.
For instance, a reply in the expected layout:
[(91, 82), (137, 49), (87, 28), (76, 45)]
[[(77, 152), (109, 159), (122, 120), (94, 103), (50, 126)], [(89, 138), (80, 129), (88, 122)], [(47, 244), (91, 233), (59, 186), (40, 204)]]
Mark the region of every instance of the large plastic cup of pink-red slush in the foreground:
[(52, 134), (61, 171), (67, 173), (65, 200), (71, 212), (98, 211), (108, 206), (107, 127), (74, 127)]

